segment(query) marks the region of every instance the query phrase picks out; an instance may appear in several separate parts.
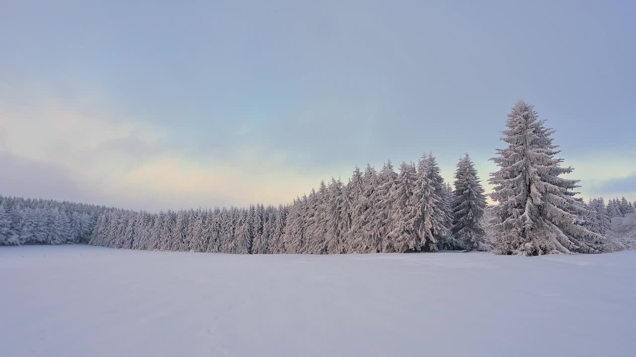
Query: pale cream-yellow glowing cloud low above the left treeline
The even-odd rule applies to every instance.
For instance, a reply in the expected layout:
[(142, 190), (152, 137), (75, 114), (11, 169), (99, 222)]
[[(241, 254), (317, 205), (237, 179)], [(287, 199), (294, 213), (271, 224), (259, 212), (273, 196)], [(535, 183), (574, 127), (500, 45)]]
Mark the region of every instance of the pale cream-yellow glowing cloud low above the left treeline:
[(87, 107), (0, 102), (0, 165), (10, 172), (2, 194), (160, 210), (277, 205), (319, 181), (286, 165), (283, 152), (243, 145), (231, 156), (197, 154), (196, 143), (161, 126)]

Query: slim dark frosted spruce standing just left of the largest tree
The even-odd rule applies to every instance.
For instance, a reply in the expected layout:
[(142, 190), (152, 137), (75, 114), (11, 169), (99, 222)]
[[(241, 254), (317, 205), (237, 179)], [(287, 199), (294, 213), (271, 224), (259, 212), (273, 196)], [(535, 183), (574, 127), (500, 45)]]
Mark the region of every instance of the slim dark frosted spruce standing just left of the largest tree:
[(483, 192), (473, 161), (466, 154), (457, 163), (455, 172), (452, 234), (467, 250), (486, 250), (482, 243), (485, 232), (481, 227), (481, 217), (487, 206)]

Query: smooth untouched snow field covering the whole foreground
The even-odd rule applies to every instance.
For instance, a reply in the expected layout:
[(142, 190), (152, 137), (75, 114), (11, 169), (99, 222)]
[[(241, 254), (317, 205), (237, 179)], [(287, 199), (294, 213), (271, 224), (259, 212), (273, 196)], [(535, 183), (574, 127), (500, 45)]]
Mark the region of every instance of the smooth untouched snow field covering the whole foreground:
[(633, 356), (636, 252), (0, 247), (0, 356)]

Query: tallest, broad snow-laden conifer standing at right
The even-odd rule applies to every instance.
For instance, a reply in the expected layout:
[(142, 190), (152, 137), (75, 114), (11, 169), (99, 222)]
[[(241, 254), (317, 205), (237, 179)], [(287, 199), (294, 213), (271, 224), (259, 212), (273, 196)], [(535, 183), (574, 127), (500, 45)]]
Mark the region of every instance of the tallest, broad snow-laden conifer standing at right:
[(572, 191), (578, 180), (559, 176), (572, 172), (556, 159), (551, 129), (537, 119), (532, 105), (520, 100), (506, 121), (508, 130), (492, 160), (500, 167), (492, 173), (492, 198), (497, 238), (496, 253), (597, 253), (602, 236), (583, 227), (586, 212)]

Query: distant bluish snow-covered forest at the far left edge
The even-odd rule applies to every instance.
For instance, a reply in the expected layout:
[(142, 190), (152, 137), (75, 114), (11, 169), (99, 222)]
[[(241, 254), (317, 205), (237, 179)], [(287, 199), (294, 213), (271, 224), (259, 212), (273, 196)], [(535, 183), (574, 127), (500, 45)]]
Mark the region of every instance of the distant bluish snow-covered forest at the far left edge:
[(0, 196), (0, 245), (85, 243), (104, 206)]

